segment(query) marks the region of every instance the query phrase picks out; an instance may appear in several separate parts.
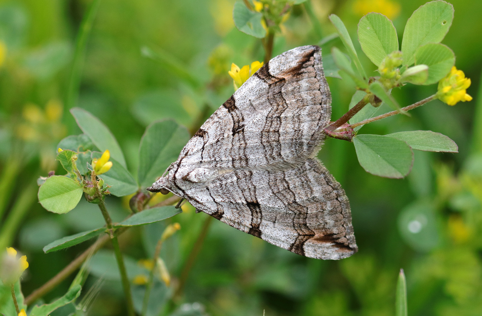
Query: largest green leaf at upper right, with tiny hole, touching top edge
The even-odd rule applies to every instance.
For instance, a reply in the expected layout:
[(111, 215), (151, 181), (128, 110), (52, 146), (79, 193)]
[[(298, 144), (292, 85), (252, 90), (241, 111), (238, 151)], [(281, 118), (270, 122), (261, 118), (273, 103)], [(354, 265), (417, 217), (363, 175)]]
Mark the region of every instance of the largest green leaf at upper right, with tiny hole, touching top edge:
[(403, 32), (403, 65), (410, 66), (415, 62), (414, 55), (418, 47), (427, 43), (440, 43), (453, 19), (454, 7), (442, 0), (427, 2), (416, 9)]

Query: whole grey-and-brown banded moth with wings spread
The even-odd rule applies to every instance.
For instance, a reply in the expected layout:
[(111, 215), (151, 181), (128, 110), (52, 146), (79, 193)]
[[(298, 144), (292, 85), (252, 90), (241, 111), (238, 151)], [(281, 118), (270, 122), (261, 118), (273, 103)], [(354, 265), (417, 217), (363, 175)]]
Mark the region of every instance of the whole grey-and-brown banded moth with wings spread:
[(358, 250), (348, 198), (316, 158), (330, 118), (321, 48), (297, 47), (234, 92), (147, 190), (297, 254), (347, 258)]

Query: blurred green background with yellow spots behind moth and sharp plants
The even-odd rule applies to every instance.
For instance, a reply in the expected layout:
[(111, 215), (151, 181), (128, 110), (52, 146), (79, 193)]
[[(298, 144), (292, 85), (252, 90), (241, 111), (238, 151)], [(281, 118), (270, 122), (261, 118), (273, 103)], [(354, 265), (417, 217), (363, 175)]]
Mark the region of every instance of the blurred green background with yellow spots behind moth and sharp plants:
[[(452, 138), (458, 154), (415, 152), (412, 173), (402, 180), (366, 173), (352, 144), (327, 139), (319, 157), (345, 188), (359, 246), (339, 261), (308, 259), (213, 221), (189, 274), (176, 315), (394, 315), (395, 284), (403, 268), (409, 315), (481, 315), (482, 311), (482, 1), (452, 0), (453, 25), (442, 41), (456, 66), (471, 78), (472, 102), (440, 101), (367, 125), (363, 133), (431, 130)], [(37, 202), (35, 179), (62, 170), (55, 145), (80, 129), (66, 106), (75, 38), (89, 0), (19, 0), (0, 3), (0, 241), (27, 254), (22, 287), (27, 296), (89, 243), (44, 254), (42, 247), (63, 236), (103, 224), (97, 207), (84, 200), (65, 215)], [(380, 12), (393, 20), (399, 41), (412, 12), (424, 0), (311, 0), (322, 36), (335, 32), (328, 15), (347, 25), (355, 45), (363, 14)], [(77, 106), (100, 118), (113, 132), (137, 171), (137, 148), (146, 126), (174, 118), (189, 129), (199, 126), (233, 92), (228, 69), (263, 59), (260, 40), (232, 22), (234, 0), (100, 0), (87, 40)], [(275, 38), (273, 55), (320, 40), (303, 5), (294, 7)], [(342, 47), (338, 40), (330, 45)], [(330, 46), (323, 46), (324, 53)], [(366, 69), (375, 66), (358, 46)], [(1, 51), (3, 54), (1, 54)], [(160, 57), (161, 56), (161, 57)], [(188, 78), (160, 60), (183, 68)], [(182, 77), (182, 76), (181, 76)], [(186, 76), (185, 76), (186, 77)], [(348, 110), (353, 82), (328, 78), (332, 119)], [(436, 85), (408, 84), (393, 91), (402, 106), (436, 92)], [(114, 221), (129, 214), (127, 198), (107, 199)], [(9, 217), (15, 208), (20, 215)], [(4, 210), (4, 211), (3, 211)], [(168, 220), (182, 229), (161, 256), (175, 284), (183, 262), (208, 216), (189, 206)], [(18, 213), (18, 211), (17, 211)], [(120, 237), (126, 261), (152, 256), (166, 223), (131, 229)], [(8, 239), (8, 238), (7, 238)], [(106, 274), (109, 247), (94, 257), (87, 286), (98, 277), (102, 290), (88, 315), (126, 315), (116, 274)], [(113, 264), (113, 263), (112, 263)], [(63, 295), (73, 276), (43, 300)], [(137, 287), (137, 288), (136, 288)], [(140, 285), (134, 285), (134, 301)], [(170, 289), (154, 290), (157, 308), (169, 310)], [(168, 307), (162, 307), (162, 305)], [(189, 312), (188, 310), (191, 309)], [(184, 311), (184, 312), (183, 312)], [(68, 306), (54, 315), (68, 315)], [(185, 313), (185, 314), (183, 314)], [(154, 314), (153, 314), (154, 315)]]

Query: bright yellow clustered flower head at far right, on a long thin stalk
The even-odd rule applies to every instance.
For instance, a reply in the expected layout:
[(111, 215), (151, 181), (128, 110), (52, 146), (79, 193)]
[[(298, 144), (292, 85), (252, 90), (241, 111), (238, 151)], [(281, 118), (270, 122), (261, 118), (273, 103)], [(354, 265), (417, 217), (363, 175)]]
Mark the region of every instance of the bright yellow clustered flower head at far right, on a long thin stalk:
[(470, 79), (465, 78), (462, 70), (453, 66), (449, 74), (439, 81), (437, 97), (448, 105), (455, 105), (459, 101), (472, 101), (472, 97), (467, 94), (469, 87)]

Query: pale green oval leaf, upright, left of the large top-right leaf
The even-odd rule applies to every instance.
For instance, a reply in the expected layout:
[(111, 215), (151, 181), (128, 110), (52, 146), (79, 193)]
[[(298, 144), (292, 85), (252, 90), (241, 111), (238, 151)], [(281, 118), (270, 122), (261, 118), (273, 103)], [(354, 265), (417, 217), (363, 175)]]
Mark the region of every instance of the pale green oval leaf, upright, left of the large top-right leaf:
[(383, 58), (398, 51), (397, 30), (393, 23), (381, 13), (368, 13), (358, 23), (358, 41), (372, 63), (380, 66)]

